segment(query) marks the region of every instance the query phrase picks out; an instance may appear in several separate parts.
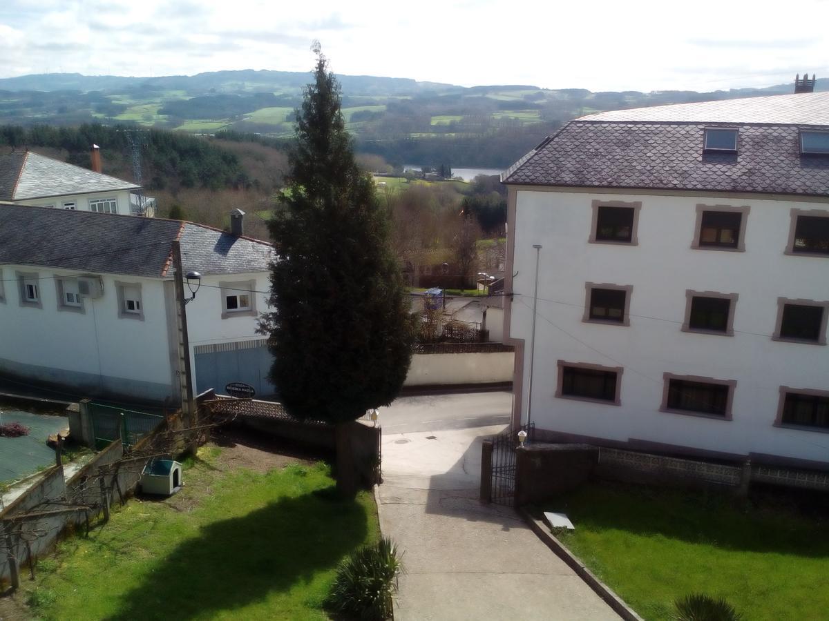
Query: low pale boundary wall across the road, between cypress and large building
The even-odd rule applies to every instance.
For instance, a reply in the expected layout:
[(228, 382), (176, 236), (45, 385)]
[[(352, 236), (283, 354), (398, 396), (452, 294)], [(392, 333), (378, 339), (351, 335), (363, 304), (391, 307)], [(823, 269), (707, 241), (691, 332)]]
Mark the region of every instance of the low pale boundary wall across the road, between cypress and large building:
[(414, 354), (404, 386), (510, 382), (512, 352)]

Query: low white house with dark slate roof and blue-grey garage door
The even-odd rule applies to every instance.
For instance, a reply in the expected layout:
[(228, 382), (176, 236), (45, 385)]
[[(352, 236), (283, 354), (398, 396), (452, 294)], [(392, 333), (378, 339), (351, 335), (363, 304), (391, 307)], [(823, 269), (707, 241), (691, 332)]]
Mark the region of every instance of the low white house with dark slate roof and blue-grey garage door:
[[(178, 220), (0, 205), (0, 377), (79, 396), (178, 402), (172, 243), (201, 273), (186, 306), (194, 392), (274, 388), (257, 335), (269, 243)], [(196, 281), (191, 281), (196, 285)], [(190, 296), (187, 286), (184, 286)]]

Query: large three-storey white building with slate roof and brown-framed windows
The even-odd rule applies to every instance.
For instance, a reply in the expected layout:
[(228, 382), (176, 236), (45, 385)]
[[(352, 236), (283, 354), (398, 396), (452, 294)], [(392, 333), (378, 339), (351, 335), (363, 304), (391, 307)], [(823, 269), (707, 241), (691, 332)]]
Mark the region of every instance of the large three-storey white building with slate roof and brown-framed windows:
[(516, 425), (829, 466), (829, 93), (579, 118), (502, 181)]

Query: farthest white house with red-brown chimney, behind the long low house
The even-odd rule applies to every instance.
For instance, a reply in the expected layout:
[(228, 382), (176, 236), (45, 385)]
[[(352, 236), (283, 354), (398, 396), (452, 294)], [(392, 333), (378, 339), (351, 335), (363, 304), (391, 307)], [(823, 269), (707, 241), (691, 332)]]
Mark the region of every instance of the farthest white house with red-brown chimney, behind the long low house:
[[(138, 214), (140, 185), (100, 172), (100, 153), (93, 146), (94, 170), (32, 151), (0, 153), (0, 200), (99, 214)], [(155, 200), (145, 199), (148, 215)]]

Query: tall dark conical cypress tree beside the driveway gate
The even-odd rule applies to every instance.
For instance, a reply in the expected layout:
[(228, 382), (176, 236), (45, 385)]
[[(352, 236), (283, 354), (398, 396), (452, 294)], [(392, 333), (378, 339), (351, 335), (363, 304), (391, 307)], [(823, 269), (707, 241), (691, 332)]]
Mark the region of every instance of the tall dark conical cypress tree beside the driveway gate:
[(414, 330), (388, 214), (354, 161), (340, 85), (318, 44), (314, 51), (286, 188), (269, 222), (278, 259), (263, 326), (274, 354), (269, 378), (286, 410), (339, 425), (395, 398)]

